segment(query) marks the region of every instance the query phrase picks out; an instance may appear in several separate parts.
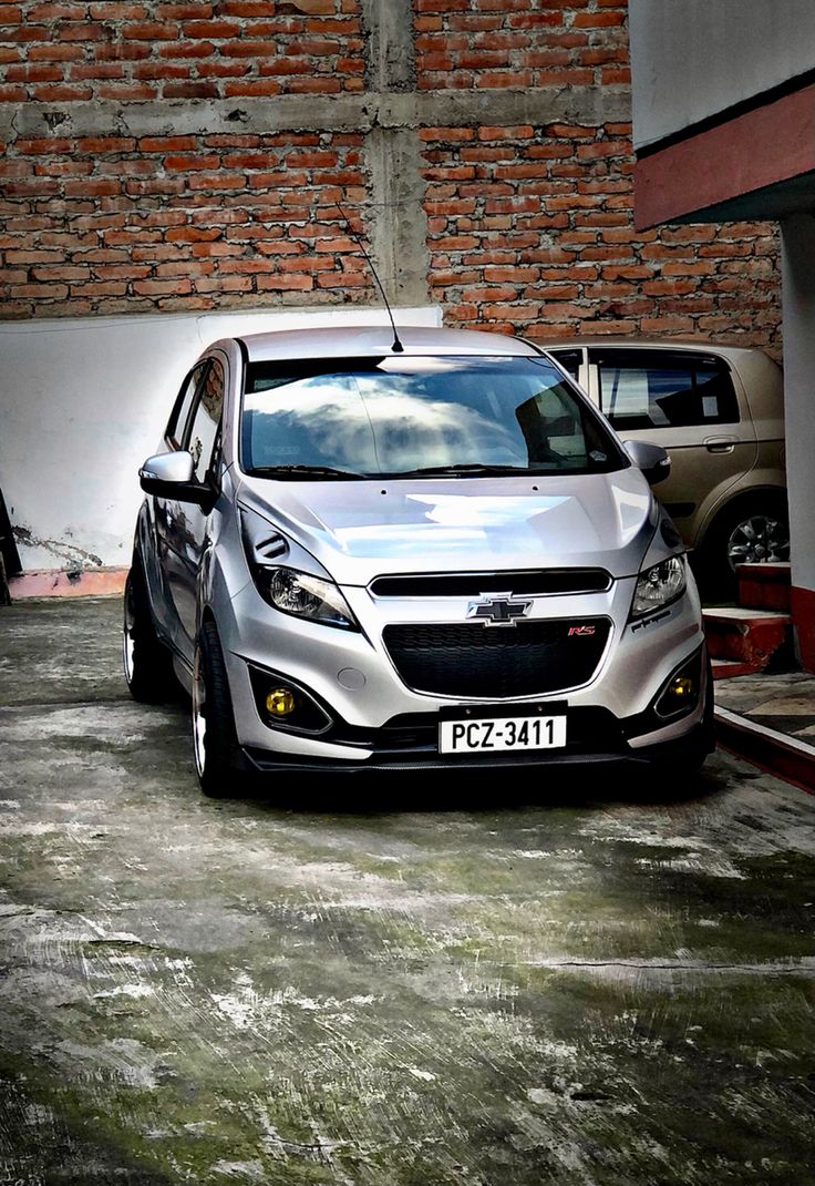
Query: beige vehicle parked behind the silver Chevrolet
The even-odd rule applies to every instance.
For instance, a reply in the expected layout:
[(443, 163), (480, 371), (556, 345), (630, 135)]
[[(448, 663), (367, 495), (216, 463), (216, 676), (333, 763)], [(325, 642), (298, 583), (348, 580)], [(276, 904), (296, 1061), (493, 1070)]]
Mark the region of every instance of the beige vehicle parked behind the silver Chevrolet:
[(681, 340), (538, 343), (623, 440), (670, 454), (657, 496), (708, 598), (742, 561), (789, 560), (782, 371), (764, 351)]

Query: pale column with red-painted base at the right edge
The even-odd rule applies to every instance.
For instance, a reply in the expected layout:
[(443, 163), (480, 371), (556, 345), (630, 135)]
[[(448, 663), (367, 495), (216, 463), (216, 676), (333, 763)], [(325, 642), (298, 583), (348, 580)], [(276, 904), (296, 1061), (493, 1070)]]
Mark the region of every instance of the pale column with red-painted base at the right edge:
[(784, 219), (781, 243), (792, 619), (815, 671), (815, 216)]

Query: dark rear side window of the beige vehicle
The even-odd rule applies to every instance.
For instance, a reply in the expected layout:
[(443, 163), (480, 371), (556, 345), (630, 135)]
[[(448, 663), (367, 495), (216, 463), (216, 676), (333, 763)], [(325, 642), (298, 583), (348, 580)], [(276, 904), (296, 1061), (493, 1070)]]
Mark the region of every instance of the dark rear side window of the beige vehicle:
[(601, 409), (617, 429), (687, 428), (738, 422), (726, 363), (670, 350), (593, 350)]

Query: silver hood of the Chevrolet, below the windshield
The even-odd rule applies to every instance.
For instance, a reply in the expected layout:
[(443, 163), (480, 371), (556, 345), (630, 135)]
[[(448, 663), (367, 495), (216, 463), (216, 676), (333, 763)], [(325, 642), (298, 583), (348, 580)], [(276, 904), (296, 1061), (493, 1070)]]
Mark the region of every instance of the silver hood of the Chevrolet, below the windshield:
[(657, 509), (642, 473), (380, 482), (244, 478), (240, 502), (340, 585), (386, 573), (638, 572)]

